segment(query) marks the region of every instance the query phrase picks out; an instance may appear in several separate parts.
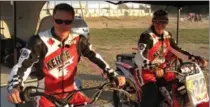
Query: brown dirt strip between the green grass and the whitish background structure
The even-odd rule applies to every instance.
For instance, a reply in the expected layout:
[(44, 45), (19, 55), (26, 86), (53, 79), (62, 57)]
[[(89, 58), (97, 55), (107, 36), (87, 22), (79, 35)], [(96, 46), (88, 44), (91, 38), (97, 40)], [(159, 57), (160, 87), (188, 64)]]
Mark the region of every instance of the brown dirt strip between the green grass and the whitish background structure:
[[(151, 17), (124, 17), (124, 18), (86, 18), (90, 28), (147, 28), (151, 25)], [(177, 18), (170, 17), (167, 28), (176, 28)], [(190, 22), (186, 18), (180, 19), (181, 29), (199, 29), (208, 28), (209, 21), (203, 19), (203, 22)]]

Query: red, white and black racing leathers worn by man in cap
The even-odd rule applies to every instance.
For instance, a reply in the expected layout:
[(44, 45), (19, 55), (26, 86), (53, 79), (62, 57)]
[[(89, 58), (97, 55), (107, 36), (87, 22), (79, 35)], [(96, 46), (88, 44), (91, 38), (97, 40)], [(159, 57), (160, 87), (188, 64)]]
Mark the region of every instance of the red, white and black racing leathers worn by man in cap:
[[(166, 68), (166, 62), (170, 60), (168, 58), (171, 54), (184, 61), (203, 61), (201, 57), (192, 55), (179, 48), (172, 39), (170, 32), (164, 31), (163, 35), (158, 35), (153, 26), (141, 34), (138, 47), (139, 50), (135, 61), (142, 71), (142, 85), (151, 81), (156, 82), (156, 76), (151, 71), (154, 67)], [(154, 66), (155, 64), (157, 66)], [(164, 77), (167, 81), (171, 81), (175, 78), (175, 74), (166, 72)]]

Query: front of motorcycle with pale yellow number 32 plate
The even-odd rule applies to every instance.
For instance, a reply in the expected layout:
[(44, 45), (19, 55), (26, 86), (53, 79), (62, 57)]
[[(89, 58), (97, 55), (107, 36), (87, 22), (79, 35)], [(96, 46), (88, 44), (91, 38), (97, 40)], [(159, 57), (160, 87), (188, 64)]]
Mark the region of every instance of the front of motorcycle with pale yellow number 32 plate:
[[(196, 63), (186, 62), (181, 64), (177, 71), (179, 81), (185, 83), (191, 107), (207, 104), (209, 102), (207, 82), (201, 67)], [(205, 107), (208, 107), (208, 104)]]

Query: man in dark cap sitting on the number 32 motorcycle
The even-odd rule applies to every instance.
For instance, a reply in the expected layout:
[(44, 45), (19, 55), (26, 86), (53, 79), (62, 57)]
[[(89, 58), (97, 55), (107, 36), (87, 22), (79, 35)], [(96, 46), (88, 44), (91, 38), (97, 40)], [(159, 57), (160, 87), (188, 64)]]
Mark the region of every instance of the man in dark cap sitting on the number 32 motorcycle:
[[(168, 15), (164, 10), (154, 12), (152, 26), (140, 36), (135, 61), (141, 71), (140, 80), (142, 82), (141, 107), (158, 107), (159, 105), (159, 85), (162, 82), (172, 82), (176, 75), (173, 72), (165, 72), (168, 55), (190, 62), (198, 62), (206, 66), (207, 62), (201, 57), (195, 56), (179, 48), (172, 39), (170, 32), (166, 31)], [(156, 65), (156, 66), (154, 66)], [(171, 101), (174, 107), (179, 107), (177, 100)]]

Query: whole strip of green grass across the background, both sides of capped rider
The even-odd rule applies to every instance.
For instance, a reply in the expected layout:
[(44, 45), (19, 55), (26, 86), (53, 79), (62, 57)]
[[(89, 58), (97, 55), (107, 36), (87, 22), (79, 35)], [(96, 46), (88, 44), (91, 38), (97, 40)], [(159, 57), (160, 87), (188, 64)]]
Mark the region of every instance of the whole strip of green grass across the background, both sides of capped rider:
[[(120, 45), (137, 43), (140, 34), (146, 29), (90, 29), (91, 42), (96, 45)], [(176, 38), (176, 29), (168, 29)], [(179, 43), (209, 43), (209, 29), (180, 29)]]

